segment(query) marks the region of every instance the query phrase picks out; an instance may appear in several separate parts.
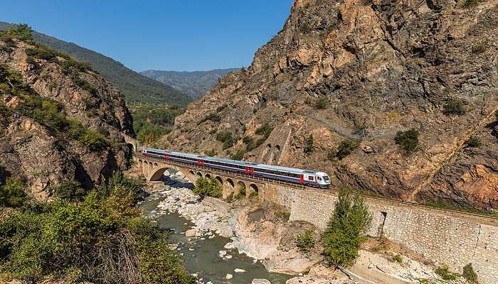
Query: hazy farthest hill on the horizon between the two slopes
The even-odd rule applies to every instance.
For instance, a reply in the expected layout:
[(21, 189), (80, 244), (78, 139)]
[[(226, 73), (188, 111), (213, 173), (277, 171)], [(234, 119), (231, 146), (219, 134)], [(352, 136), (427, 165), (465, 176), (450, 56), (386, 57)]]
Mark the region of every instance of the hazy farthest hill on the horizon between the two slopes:
[(194, 72), (147, 70), (140, 72), (140, 74), (168, 84), (196, 99), (210, 91), (218, 83), (218, 80), (225, 77), (228, 72), (238, 70), (238, 68)]

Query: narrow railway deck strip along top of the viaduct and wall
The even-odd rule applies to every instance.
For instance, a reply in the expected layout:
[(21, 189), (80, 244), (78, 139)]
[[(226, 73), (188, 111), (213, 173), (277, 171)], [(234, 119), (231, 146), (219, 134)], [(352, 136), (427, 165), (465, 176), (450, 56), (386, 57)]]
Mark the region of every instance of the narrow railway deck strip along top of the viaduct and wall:
[[(294, 188), (296, 190), (311, 190), (314, 192), (319, 192), (319, 193), (327, 194), (327, 195), (331, 195), (331, 196), (337, 196), (338, 192), (339, 192), (338, 190), (335, 190), (335, 189), (323, 190), (323, 189), (318, 189), (316, 187), (309, 187), (306, 185), (298, 185), (298, 184), (295, 184), (292, 182), (284, 182), (284, 181), (280, 181), (280, 180), (271, 180), (268, 178), (254, 177), (251, 175), (243, 175), (243, 174), (233, 173), (233, 172), (230, 172), (228, 170), (218, 170), (218, 169), (208, 168), (208, 167), (204, 167), (201, 165), (195, 165), (195, 164), (191, 164), (191, 163), (182, 163), (182, 162), (176, 162), (176, 161), (172, 161), (172, 160), (164, 160), (161, 158), (155, 158), (155, 157), (142, 155), (142, 153), (135, 154), (135, 157), (137, 157), (139, 159), (143, 159), (143, 160), (154, 160), (154, 161), (164, 163), (167, 165), (176, 165), (176, 166), (179, 166), (182, 168), (189, 168), (191, 170), (203, 170), (203, 171), (210, 172), (213, 174), (223, 175), (223, 176), (228, 177), (228, 178), (236, 178), (236, 179), (240, 179), (240, 180), (248, 180), (251, 182), (258, 182), (258, 183), (263, 182), (263, 183), (272, 183), (274, 185), (282, 185), (285, 187)], [(459, 211), (459, 210), (454, 210), (454, 209), (444, 209), (444, 208), (439, 208), (439, 207), (432, 207), (432, 206), (428, 206), (428, 205), (424, 205), (424, 204), (420, 204), (420, 203), (415, 203), (415, 202), (408, 202), (408, 201), (403, 201), (403, 200), (393, 200), (393, 199), (389, 199), (386, 197), (376, 197), (376, 196), (366, 195), (366, 194), (362, 194), (361, 192), (354, 192), (354, 194), (359, 195), (361, 197), (364, 197), (365, 200), (381, 202), (383, 204), (388, 204), (388, 205), (398, 206), (398, 207), (399, 206), (418, 207), (418, 208), (425, 209), (425, 210), (431, 210), (431, 211), (434, 210), (435, 212), (438, 212), (440, 214), (450, 213), (452, 216), (464, 218), (464, 219), (467, 219), (467, 220), (472, 221), (472, 222), (477, 222), (477, 223), (481, 223), (481, 224), (489, 224), (492, 226), (498, 226), (498, 217), (494, 217), (494, 216), (487, 215), (487, 214), (479, 214), (479, 213), (464, 212), (464, 211)]]

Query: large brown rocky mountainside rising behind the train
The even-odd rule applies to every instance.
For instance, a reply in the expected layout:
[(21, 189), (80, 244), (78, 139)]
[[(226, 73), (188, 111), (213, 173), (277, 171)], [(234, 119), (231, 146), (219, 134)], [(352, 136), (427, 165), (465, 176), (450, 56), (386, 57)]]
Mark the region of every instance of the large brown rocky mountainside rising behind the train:
[[(325, 170), (334, 186), (498, 208), (497, 4), (296, 0), (248, 70), (189, 104), (164, 146), (230, 156), (249, 144), (245, 160)], [(408, 154), (394, 138), (412, 128)], [(334, 158), (346, 138), (361, 143)]]

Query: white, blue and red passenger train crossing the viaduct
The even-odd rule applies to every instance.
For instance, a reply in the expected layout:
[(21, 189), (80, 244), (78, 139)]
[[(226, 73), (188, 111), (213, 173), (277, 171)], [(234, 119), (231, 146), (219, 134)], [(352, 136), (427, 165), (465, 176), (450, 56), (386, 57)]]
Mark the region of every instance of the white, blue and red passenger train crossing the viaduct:
[(201, 165), (206, 168), (217, 170), (228, 170), (242, 175), (309, 185), (312, 187), (328, 188), (330, 186), (329, 175), (313, 170), (286, 168), (278, 165), (265, 165), (240, 160), (228, 160), (154, 148), (144, 148), (142, 150), (142, 155), (162, 160), (173, 160), (181, 163), (190, 163), (192, 165)]

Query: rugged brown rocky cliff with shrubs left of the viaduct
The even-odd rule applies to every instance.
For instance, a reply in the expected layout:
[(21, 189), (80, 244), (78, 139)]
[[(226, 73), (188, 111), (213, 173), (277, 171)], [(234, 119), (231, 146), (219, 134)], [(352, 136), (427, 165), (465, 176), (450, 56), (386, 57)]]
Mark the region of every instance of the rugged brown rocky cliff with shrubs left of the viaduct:
[(86, 65), (2, 35), (0, 98), (2, 175), (21, 179), (36, 199), (60, 182), (88, 189), (127, 167), (132, 117), (122, 94)]

